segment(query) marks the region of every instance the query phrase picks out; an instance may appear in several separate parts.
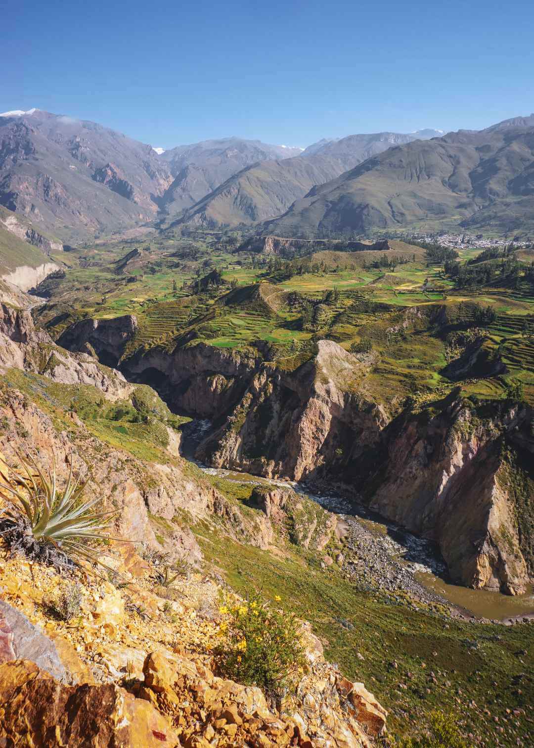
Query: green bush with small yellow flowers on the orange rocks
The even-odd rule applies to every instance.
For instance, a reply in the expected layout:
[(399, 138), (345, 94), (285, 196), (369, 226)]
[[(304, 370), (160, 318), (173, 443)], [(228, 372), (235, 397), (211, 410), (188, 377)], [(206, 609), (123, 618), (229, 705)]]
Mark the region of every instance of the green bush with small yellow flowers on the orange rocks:
[(245, 601), (227, 595), (219, 613), (221, 643), (215, 656), (223, 675), (270, 692), (291, 684), (304, 663), (293, 614), (269, 607), (257, 593)]

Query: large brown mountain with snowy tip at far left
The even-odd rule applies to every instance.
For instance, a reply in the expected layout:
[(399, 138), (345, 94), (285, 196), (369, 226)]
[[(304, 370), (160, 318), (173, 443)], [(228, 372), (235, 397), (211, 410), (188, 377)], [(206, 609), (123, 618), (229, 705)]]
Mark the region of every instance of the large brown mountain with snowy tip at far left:
[(171, 184), (152, 147), (38, 109), (0, 117), (0, 204), (61, 239), (153, 220)]

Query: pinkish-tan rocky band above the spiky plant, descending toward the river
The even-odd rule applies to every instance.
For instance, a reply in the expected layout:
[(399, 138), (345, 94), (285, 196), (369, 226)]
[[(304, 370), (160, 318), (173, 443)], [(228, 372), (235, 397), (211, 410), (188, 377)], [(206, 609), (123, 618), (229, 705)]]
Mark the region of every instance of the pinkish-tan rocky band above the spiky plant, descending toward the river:
[[(68, 432), (58, 433), (49, 416), (12, 388), (2, 393), (0, 417), (4, 419), (0, 450), (9, 464), (16, 462), (16, 453), (38, 450), (43, 466), (52, 468), (54, 454), (60, 481), (67, 479), (71, 456), (75, 471), (85, 475), (90, 466), (85, 495), (88, 499), (98, 497), (102, 509), (117, 511), (114, 534), (133, 544), (144, 542), (165, 551), (170, 562), (183, 559), (197, 565), (202, 558), (188, 525), (174, 521), (182, 512), (191, 521), (212, 515), (221, 518), (224, 531), (240, 542), (260, 548), (268, 548), (272, 542), (274, 530), (268, 517), (240, 511), (200, 475), (192, 476), (183, 469), (179, 459), (165, 464), (134, 459), (99, 441), (75, 413), (69, 416)], [(313, 537), (324, 537), (331, 515), (320, 507), (316, 514), (321, 520), (316, 521)], [(163, 525), (150, 521), (150, 515), (161, 518)], [(295, 542), (303, 542), (309, 530), (295, 531)]]

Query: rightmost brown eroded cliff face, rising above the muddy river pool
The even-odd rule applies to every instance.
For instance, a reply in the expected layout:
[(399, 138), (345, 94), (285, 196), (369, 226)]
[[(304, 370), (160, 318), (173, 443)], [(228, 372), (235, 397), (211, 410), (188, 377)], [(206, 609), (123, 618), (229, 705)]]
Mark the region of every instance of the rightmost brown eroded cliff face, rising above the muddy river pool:
[(534, 574), (526, 561), (530, 540), (503, 453), (521, 435), (532, 444), (532, 418), (530, 408), (496, 405), (493, 418), (482, 420), (450, 397), (435, 417), (425, 411), (399, 416), (384, 429), (375, 454), (347, 466), (343, 477), (372, 509), (438, 542), (462, 584), (524, 592)]

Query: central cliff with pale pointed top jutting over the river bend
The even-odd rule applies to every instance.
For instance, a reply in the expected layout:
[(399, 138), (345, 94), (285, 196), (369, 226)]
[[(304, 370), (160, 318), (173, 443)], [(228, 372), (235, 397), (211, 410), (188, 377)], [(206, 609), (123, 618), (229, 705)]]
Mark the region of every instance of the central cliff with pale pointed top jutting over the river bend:
[(263, 367), (227, 422), (200, 444), (200, 459), (267, 477), (313, 479), (341, 456), (375, 444), (386, 414), (351, 391), (366, 364), (331, 340), (318, 347), (298, 375)]

